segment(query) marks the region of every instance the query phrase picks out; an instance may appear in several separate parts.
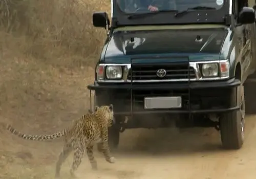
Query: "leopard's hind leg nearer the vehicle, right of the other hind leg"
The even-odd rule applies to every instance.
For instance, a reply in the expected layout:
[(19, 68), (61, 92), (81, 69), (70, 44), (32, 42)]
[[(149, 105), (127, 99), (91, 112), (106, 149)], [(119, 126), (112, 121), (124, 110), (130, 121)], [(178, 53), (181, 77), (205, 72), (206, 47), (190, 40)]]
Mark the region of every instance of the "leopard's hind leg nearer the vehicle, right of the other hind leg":
[(83, 154), (84, 154), (84, 149), (85, 149), (85, 145), (79, 144), (75, 150), (72, 167), (70, 169), (70, 174), (73, 178), (76, 178), (75, 171), (81, 164), (81, 160), (82, 160)]

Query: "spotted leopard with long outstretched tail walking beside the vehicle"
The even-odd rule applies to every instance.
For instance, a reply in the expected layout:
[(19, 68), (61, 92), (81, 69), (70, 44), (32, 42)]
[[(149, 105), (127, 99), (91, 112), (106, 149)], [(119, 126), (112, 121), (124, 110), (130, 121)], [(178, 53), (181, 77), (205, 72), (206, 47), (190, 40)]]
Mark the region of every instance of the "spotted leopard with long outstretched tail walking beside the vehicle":
[(115, 163), (115, 158), (111, 155), (108, 145), (108, 128), (114, 123), (113, 105), (111, 104), (100, 107), (95, 106), (94, 111), (89, 110), (89, 113), (74, 120), (71, 127), (55, 132), (52, 135), (26, 135), (9, 124), (2, 123), (2, 125), (5, 125), (6, 129), (15, 136), (26, 140), (49, 141), (64, 136), (65, 142), (56, 163), (55, 178), (60, 177), (61, 165), (72, 151), (74, 151), (74, 155), (70, 174), (72, 178), (77, 178), (75, 171), (81, 164), (81, 159), (85, 152), (87, 152), (92, 169), (97, 170), (97, 161), (93, 153), (93, 147), (96, 144), (102, 151), (106, 162)]

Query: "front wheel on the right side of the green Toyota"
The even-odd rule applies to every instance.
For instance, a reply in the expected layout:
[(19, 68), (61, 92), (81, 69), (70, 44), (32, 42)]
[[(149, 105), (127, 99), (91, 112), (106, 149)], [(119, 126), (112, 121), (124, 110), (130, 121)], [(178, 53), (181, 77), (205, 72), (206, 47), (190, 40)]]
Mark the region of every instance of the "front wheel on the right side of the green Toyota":
[(245, 100), (242, 84), (231, 92), (231, 104), (239, 104), (240, 109), (221, 116), (221, 141), (225, 149), (240, 149), (244, 143), (245, 131)]

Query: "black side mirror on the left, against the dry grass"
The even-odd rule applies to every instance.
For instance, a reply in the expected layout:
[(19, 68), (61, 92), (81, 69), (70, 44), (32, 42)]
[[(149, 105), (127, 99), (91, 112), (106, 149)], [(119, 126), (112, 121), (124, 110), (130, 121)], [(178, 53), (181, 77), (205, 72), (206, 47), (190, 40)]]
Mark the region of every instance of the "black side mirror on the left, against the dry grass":
[(103, 27), (110, 25), (110, 19), (106, 12), (94, 12), (93, 13), (93, 26), (94, 27)]

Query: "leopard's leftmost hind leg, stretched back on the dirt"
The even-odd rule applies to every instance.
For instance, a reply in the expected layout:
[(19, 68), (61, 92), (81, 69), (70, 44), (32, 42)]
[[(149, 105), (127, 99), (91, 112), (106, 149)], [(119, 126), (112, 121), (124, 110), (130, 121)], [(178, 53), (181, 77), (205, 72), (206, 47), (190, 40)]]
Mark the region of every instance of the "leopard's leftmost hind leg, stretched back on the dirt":
[(56, 163), (56, 170), (55, 170), (55, 178), (59, 177), (60, 168), (62, 163), (68, 158), (70, 152), (72, 151), (72, 144), (66, 143), (64, 147), (62, 148), (62, 151), (59, 154), (59, 159)]

